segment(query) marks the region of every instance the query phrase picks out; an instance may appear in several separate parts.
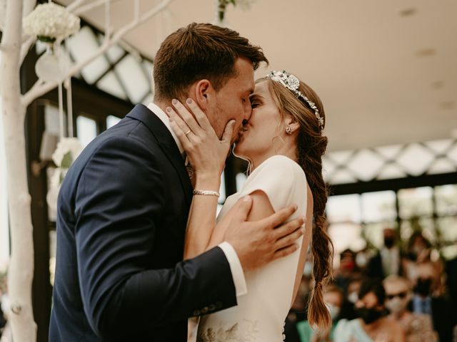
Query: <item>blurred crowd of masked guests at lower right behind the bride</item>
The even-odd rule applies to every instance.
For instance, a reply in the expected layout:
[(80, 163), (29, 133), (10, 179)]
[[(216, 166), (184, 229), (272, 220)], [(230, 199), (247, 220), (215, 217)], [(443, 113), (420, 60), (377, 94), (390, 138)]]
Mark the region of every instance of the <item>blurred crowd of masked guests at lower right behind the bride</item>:
[(328, 334), (319, 335), (306, 321), (313, 281), (303, 274), (285, 341), (457, 341), (456, 265), (457, 259), (437, 258), (421, 232), (401, 241), (386, 227), (380, 249), (339, 253), (323, 295), (333, 319)]

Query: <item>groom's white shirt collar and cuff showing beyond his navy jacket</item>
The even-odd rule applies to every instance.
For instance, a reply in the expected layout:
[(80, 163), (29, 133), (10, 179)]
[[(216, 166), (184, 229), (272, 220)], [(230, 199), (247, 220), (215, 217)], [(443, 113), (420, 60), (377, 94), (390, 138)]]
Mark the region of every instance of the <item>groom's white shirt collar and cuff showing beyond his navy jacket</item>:
[[(183, 145), (181, 145), (181, 142), (179, 141), (178, 137), (171, 129), (168, 115), (166, 115), (164, 113), (164, 110), (162, 110), (155, 103), (149, 103), (148, 108), (149, 110), (151, 110), (152, 113), (154, 113), (157, 116), (157, 118), (161, 120), (162, 123), (164, 123), (166, 128), (168, 128), (168, 130), (171, 133), (171, 136), (173, 137), (174, 141), (176, 142), (176, 145), (179, 148), (179, 152), (181, 152), (182, 155), (184, 153)], [(231, 276), (233, 278), (233, 283), (235, 284), (236, 296), (243, 296), (244, 294), (247, 294), (248, 289), (246, 286), (246, 279), (244, 278), (243, 268), (241, 267), (241, 262), (238, 258), (238, 255), (235, 252), (235, 249), (233, 249), (229, 242), (222, 242), (221, 244), (219, 244), (218, 247), (222, 249), (222, 252), (224, 252), (224, 254), (226, 255), (227, 261), (229, 261)]]

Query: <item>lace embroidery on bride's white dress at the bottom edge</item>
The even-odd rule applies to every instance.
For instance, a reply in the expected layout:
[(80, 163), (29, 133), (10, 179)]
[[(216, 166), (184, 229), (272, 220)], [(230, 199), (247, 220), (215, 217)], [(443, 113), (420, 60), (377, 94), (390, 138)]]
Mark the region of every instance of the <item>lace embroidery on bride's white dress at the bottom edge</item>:
[(243, 325), (233, 324), (229, 328), (213, 327), (199, 331), (196, 342), (253, 342), (258, 334), (257, 321), (243, 320)]

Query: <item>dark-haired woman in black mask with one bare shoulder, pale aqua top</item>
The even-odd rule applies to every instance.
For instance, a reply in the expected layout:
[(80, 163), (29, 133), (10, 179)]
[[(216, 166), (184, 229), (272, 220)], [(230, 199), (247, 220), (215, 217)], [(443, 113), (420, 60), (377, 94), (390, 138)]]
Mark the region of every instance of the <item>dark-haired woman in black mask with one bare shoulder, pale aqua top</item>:
[(377, 279), (365, 279), (358, 291), (356, 311), (360, 318), (338, 322), (335, 342), (405, 342), (400, 324), (386, 318), (386, 292)]

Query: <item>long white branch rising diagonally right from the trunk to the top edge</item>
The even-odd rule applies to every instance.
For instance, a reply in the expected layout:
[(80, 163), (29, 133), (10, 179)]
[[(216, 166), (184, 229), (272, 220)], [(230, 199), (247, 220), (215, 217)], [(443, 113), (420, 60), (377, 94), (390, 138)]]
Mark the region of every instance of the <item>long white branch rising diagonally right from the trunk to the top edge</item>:
[[(132, 29), (136, 28), (136, 26), (143, 24), (144, 21), (147, 21), (147, 20), (151, 19), (152, 17), (156, 16), (157, 14), (159, 14), (161, 11), (166, 9), (166, 7), (169, 6), (169, 4), (171, 4), (171, 2), (173, 2), (173, 1), (174, 0), (164, 0), (159, 5), (154, 7), (154, 9), (147, 11), (139, 19), (134, 19), (133, 21), (131, 21), (131, 23), (126, 24), (125, 26), (121, 27), (118, 31), (116, 31), (116, 33), (114, 33), (112, 38), (106, 39), (106, 41), (104, 41), (104, 43), (92, 54), (92, 56), (89, 56), (84, 61), (81, 61), (81, 62), (77, 63), (75, 66), (73, 66), (72, 68), (70, 68), (69, 72), (66, 73), (66, 75), (62, 77), (62, 81), (66, 78), (70, 78), (71, 76), (74, 76), (76, 73), (81, 71), (81, 69), (84, 68), (84, 66), (91, 63), (91, 61), (94, 61), (95, 58), (101, 56), (111, 46), (116, 44), (123, 36), (126, 35), (126, 33), (131, 31)], [(37, 84), (39, 82), (41, 82), (41, 84)], [(41, 80), (36, 81), (34, 86), (32, 86), (32, 88), (29, 91), (27, 91), (27, 93), (25, 93), (24, 95), (21, 96), (21, 103), (24, 106), (29, 105), (35, 98), (38, 98), (39, 96), (47, 93), (49, 90), (55, 88), (59, 84), (59, 82), (60, 81), (44, 83)]]

